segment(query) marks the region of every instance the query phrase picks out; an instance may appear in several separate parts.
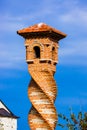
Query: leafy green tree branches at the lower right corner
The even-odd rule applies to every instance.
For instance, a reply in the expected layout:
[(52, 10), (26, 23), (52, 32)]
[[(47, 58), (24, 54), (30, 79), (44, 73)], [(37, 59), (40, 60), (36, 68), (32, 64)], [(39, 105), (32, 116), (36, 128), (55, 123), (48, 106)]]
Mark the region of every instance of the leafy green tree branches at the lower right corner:
[(64, 129), (87, 130), (87, 112), (79, 112), (77, 116), (74, 113), (70, 113), (69, 118), (67, 118), (64, 114), (58, 114), (58, 117), (65, 121), (65, 124), (58, 123), (58, 126)]

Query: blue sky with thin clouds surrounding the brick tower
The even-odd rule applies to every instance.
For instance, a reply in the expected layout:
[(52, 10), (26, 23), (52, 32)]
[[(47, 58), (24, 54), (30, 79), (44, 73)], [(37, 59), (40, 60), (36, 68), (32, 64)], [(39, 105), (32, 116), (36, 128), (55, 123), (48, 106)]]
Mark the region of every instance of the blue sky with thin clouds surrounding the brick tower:
[[(60, 41), (55, 74), (57, 111), (87, 111), (87, 1), (0, 0), (0, 99), (18, 116), (18, 130), (29, 130), (27, 97), (30, 75), (24, 39), (16, 31), (44, 22), (67, 34)], [(59, 130), (59, 128), (56, 128)]]

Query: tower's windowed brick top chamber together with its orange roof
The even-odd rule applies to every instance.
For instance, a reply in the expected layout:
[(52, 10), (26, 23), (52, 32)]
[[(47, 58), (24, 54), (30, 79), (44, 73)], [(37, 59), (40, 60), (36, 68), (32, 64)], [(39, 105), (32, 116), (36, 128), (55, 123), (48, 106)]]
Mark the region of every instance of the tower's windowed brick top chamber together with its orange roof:
[(29, 71), (50, 70), (54, 73), (58, 63), (59, 40), (66, 34), (45, 23), (18, 30), (17, 34), (25, 38)]

